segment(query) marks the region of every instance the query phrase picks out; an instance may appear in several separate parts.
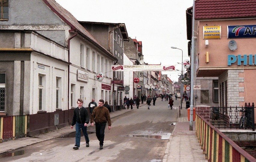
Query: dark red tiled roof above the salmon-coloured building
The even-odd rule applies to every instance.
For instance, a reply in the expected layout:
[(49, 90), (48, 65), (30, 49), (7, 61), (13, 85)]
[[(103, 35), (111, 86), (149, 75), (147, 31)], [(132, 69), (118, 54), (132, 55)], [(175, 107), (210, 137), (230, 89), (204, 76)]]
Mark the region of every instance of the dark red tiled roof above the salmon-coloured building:
[(256, 17), (255, 0), (196, 0), (195, 19)]

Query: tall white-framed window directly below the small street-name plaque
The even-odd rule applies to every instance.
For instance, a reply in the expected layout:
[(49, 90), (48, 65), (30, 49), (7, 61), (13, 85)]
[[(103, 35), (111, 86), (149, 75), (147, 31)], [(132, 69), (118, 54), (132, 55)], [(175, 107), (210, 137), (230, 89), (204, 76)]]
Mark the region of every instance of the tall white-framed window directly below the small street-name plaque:
[(45, 110), (45, 75), (38, 74), (38, 110)]

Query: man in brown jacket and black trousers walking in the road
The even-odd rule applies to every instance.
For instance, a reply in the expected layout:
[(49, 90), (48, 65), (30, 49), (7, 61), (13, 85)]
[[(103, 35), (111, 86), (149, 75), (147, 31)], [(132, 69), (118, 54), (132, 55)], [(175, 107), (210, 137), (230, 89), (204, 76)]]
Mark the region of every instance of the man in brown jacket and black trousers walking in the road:
[(109, 111), (106, 107), (103, 106), (104, 100), (99, 100), (99, 106), (95, 107), (91, 115), (91, 126), (94, 126), (96, 137), (99, 140), (99, 149), (103, 149), (104, 137), (105, 137), (105, 128), (106, 123), (108, 122), (108, 130), (111, 129), (111, 119)]

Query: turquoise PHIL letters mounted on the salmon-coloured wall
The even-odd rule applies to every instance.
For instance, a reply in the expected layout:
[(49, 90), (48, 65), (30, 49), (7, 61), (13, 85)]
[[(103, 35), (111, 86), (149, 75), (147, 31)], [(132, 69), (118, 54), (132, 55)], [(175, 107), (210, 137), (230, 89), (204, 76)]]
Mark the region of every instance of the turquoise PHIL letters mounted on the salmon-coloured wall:
[[(248, 57), (247, 57), (248, 56)], [(254, 65), (256, 63), (256, 55), (227, 55), (227, 65)]]

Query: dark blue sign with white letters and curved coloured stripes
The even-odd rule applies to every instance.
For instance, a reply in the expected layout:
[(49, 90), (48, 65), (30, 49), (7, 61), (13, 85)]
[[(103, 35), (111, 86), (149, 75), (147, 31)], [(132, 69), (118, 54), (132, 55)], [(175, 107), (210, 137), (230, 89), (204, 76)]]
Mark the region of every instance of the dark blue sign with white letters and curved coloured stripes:
[(256, 38), (256, 25), (227, 26), (227, 38)]

